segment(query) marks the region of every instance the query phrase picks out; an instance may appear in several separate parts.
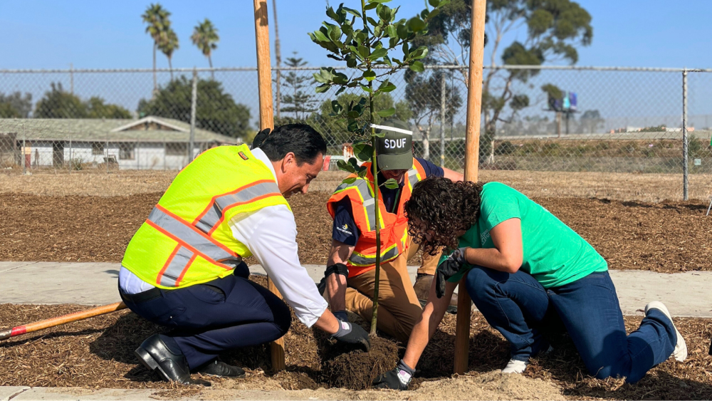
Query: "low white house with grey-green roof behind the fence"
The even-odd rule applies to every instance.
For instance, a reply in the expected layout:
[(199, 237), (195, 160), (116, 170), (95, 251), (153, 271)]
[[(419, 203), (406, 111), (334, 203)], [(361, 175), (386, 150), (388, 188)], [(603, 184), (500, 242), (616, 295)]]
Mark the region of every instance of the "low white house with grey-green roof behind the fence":
[[(0, 118), (0, 166), (69, 165), (179, 170), (188, 163), (190, 125), (171, 118), (140, 120)], [(193, 155), (239, 140), (195, 129)]]

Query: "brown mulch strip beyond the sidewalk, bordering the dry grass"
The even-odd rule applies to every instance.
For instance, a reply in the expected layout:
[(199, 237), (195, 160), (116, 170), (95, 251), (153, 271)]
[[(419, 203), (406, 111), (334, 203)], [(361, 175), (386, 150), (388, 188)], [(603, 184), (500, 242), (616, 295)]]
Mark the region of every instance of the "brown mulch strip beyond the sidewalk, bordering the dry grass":
[[(0, 194), (0, 260), (121, 261), (131, 236), (160, 196)], [(290, 199), (304, 264), (326, 263), (331, 244), (327, 199), (325, 192)], [(589, 241), (611, 269), (712, 270), (712, 217), (705, 217), (707, 205), (701, 202), (535, 201)]]

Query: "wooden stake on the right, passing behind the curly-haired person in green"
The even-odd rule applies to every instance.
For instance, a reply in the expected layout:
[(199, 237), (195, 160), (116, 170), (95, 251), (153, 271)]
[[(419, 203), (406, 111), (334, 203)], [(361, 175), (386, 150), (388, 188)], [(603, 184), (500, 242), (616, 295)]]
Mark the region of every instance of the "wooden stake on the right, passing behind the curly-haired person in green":
[[(478, 180), (480, 152), (480, 118), (482, 116), (482, 63), (485, 44), (486, 0), (473, 0), (470, 36), (470, 63), (467, 92), (467, 133), (465, 139), (465, 179)], [(465, 277), (457, 293), (457, 323), (455, 326), (454, 372), (462, 375), (467, 370), (470, 343), (471, 299), (465, 288)]]

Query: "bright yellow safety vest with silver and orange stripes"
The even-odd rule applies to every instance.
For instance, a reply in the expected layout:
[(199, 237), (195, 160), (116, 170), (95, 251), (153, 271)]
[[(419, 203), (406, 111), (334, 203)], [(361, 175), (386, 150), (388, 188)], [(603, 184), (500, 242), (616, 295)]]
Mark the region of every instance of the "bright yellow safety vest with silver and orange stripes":
[(230, 219), (277, 204), (289, 207), (269, 167), (247, 145), (206, 150), (175, 177), (121, 264), (165, 289), (228, 276), (251, 256), (234, 238)]

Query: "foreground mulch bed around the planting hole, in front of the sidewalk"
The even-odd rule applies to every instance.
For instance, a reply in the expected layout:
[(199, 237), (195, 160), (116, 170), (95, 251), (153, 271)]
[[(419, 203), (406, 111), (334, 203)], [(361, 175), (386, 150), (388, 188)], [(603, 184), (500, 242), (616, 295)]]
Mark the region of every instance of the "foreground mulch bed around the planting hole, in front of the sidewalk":
[[(253, 276), (253, 279), (260, 283), (265, 281), (263, 277)], [(84, 308), (88, 307), (3, 304), (0, 305), (0, 327), (16, 326)], [(293, 321), (285, 338), (286, 371), (271, 374), (270, 351), (268, 345), (263, 345), (234, 350), (223, 356), (227, 363), (246, 368), (248, 375), (244, 379), (204, 378), (213, 382), (214, 387), (230, 389), (300, 390), (330, 387), (330, 383), (333, 383), (331, 375), (335, 370), (327, 372), (325, 367), (335, 360), (333, 344), (318, 330), (305, 328), (295, 319)], [(626, 317), (628, 330), (637, 328), (640, 321), (640, 317)], [(675, 322), (687, 340), (689, 359), (684, 363), (674, 360), (661, 363), (636, 385), (625, 384), (620, 378), (597, 380), (588, 375), (567, 338), (560, 338), (552, 353), (533, 358), (525, 375), (554, 382), (571, 399), (711, 399), (712, 357), (707, 355), (707, 349), (712, 335), (712, 321), (676, 318)], [(189, 391), (188, 387), (160, 381), (156, 375), (139, 365), (133, 355), (133, 350), (142, 340), (159, 330), (158, 326), (129, 311), (119, 311), (6, 340), (0, 343), (0, 385), (155, 388), (180, 390), (184, 394)], [(425, 380), (451, 376), (454, 333), (455, 316), (447, 315), (426, 348), (413, 386), (419, 386)], [(378, 363), (392, 365), (398, 358), (392, 350), (397, 348), (402, 355), (402, 344), (387, 338), (382, 341), (388, 343), (384, 351), (388, 355)], [(362, 358), (362, 355), (356, 355), (355, 358)], [(473, 313), (468, 375), (501, 369), (507, 360), (508, 345), (505, 340), (488, 326), (479, 313)], [(350, 365), (351, 368), (355, 366), (357, 364)], [(360, 388), (364, 381), (362, 375), (367, 369), (370, 369), (370, 365), (365, 364), (351, 374), (344, 373), (338, 384)], [(340, 371), (345, 372), (343, 369)], [(371, 374), (367, 372), (367, 375)]]

